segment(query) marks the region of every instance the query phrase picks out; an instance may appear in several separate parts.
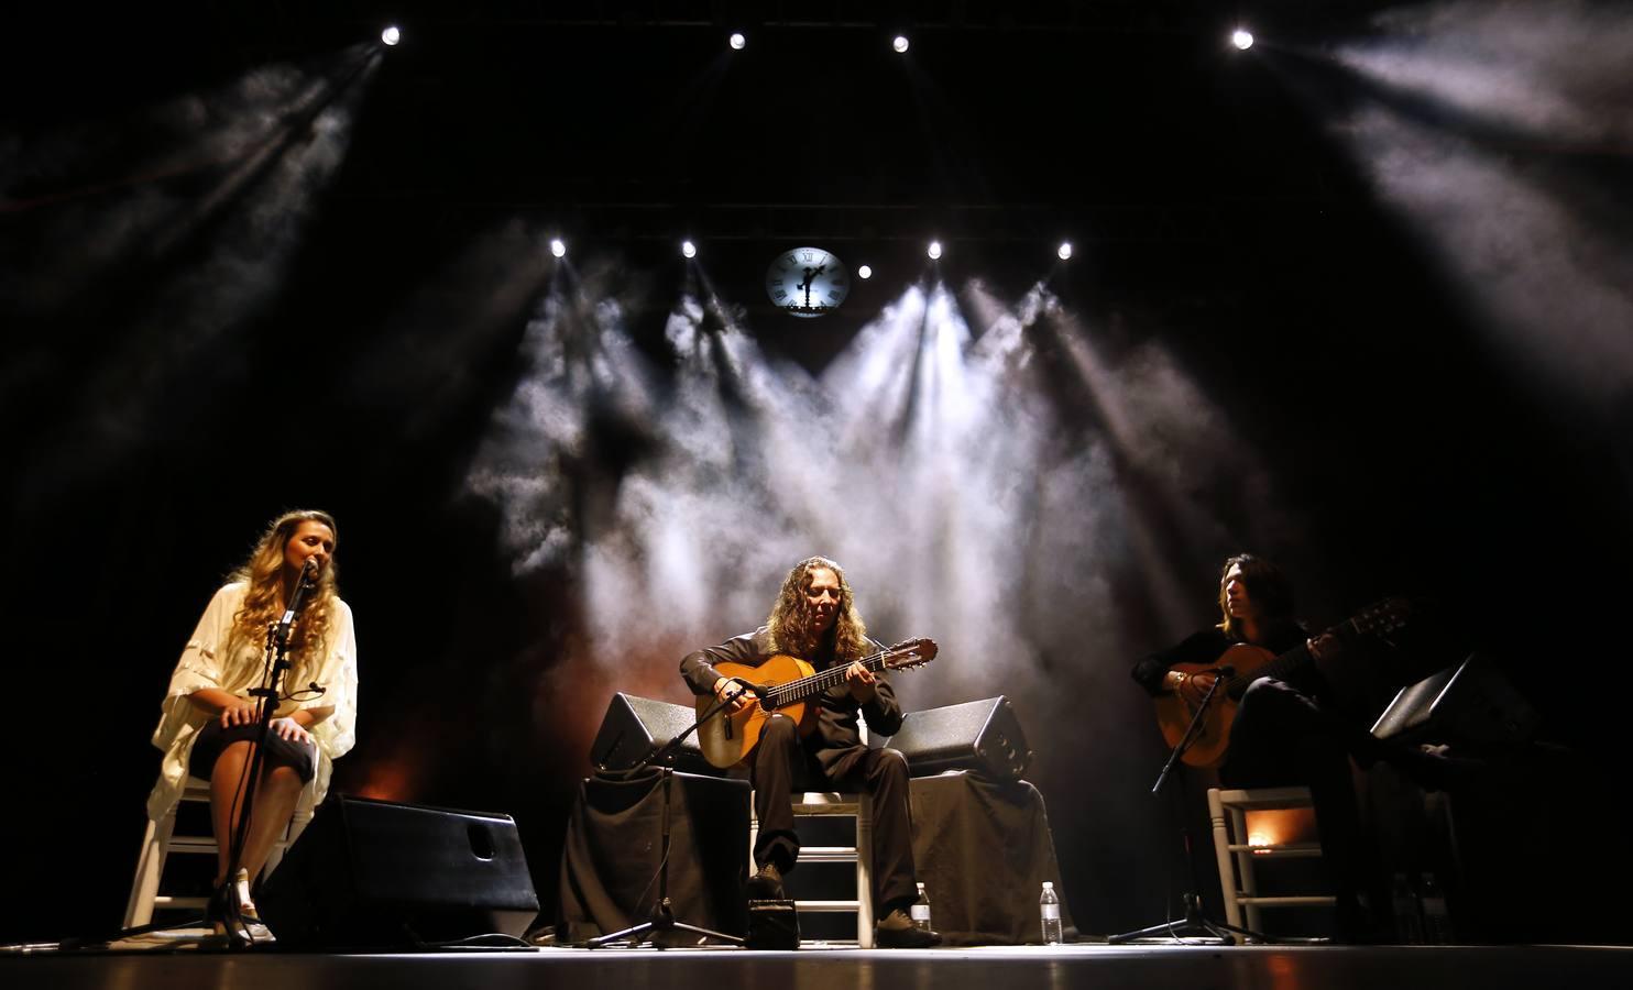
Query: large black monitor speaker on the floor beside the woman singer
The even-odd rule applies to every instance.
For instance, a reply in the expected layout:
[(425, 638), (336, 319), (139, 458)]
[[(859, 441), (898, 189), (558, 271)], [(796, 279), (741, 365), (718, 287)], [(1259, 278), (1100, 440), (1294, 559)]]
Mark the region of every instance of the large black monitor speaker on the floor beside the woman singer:
[(330, 794), (266, 877), (261, 920), (289, 948), (413, 948), (539, 915), (516, 822)]

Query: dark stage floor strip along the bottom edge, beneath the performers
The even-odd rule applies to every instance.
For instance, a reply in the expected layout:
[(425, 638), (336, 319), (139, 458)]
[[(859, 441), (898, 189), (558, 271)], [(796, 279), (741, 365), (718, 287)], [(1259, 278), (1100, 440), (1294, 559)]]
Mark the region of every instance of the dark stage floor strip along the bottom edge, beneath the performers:
[(996, 990), (1406, 990), (1633, 985), (1625, 946), (1024, 946), (928, 951), (516, 949), (392, 954), (54, 952), (0, 954), (10, 990), (358, 988), (505, 990), (857, 987)]

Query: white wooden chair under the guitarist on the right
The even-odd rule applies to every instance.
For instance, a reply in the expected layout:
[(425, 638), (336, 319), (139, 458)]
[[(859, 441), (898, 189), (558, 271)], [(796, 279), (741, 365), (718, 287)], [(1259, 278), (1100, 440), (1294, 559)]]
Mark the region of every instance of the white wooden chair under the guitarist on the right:
[[(1225, 921), (1236, 928), (1264, 931), (1261, 908), (1333, 907), (1333, 895), (1264, 897), (1254, 877), (1261, 859), (1319, 858), (1321, 843), (1253, 845), (1248, 812), (1274, 809), (1315, 809), (1310, 787), (1256, 787), (1253, 791), (1208, 789), (1208, 817), (1213, 820), (1213, 854), (1218, 859), (1225, 894)], [(1246, 913), (1246, 925), (1243, 915)]]

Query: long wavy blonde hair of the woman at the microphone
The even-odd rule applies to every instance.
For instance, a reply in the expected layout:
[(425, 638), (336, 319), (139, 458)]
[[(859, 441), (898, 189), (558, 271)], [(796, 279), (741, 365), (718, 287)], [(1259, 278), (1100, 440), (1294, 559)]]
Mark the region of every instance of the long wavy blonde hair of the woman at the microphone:
[[(237, 650), (247, 644), (261, 649), (266, 642), (266, 627), (283, 618), (284, 608), (287, 608), (283, 582), (284, 547), (294, 539), (300, 523), (309, 521), (328, 526), (328, 531), (335, 534), (335, 546), (340, 546), (340, 529), (335, 526), (335, 516), (315, 508), (287, 511), (266, 526), (266, 533), (261, 534), (255, 549), (250, 551), (250, 559), (238, 565), (227, 578), (229, 582), (243, 582), (250, 586), (243, 595), (243, 608), (232, 616), (232, 632), (227, 635), (229, 657), (237, 655)], [(328, 565), (318, 575), (312, 598), (300, 609), (300, 616), (296, 619), (289, 635), (286, 691), (305, 688), (317, 676), (318, 665), (323, 662), (330, 618), (336, 598), (340, 598), (340, 588), (335, 583), (335, 559), (330, 555)]]

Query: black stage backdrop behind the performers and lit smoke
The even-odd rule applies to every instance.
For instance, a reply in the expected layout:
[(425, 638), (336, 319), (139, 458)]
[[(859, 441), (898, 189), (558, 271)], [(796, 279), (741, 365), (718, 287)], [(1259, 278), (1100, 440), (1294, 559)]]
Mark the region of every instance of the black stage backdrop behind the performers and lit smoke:
[[(349, 38), (333, 26), (328, 34), (333, 46), (310, 49), (314, 57), (341, 51)], [(8, 46), (20, 46), (26, 34), (11, 36)], [(622, 227), (580, 230), (590, 247), (572, 256), (578, 271), (612, 273), (601, 284), (617, 284), (629, 335), (661, 390), (676, 364), (665, 325), (687, 278), (673, 258), (671, 232), (683, 229), (689, 203), (732, 191), (715, 188), (712, 168), (746, 172), (745, 154), (759, 154), (769, 168), (785, 155), (738, 147), (730, 162), (692, 160), (686, 180), (674, 181), (673, 147), (647, 165), (624, 154), (643, 139), (639, 123), (619, 123), (619, 100), (635, 105), (650, 87), (612, 98), (583, 82), (573, 96), (529, 100), (539, 78), (523, 72), (519, 44), (495, 49), (492, 38), (464, 36), (449, 39), (456, 60), (438, 60), (426, 42), (405, 52), (402, 65), (369, 70), (372, 88), (351, 108), (349, 124), (336, 124), (349, 127), (349, 144), (336, 150), (323, 183), (299, 201), (286, 190), (248, 222), (235, 211), (250, 209), (251, 193), (265, 188), (256, 183), (276, 175), (251, 170), (245, 185), (224, 185), (224, 172), (242, 158), (178, 163), (152, 147), (124, 157), (119, 140), (98, 144), (96, 127), (225, 85), (256, 64), (251, 54), (199, 54), (171, 42), (137, 57), (111, 28), (83, 51), (69, 46), (62, 25), (39, 38), (62, 60), (26, 62), (41, 74), (46, 98), (7, 119), (5, 147), (33, 162), (33, 172), (8, 188), (15, 207), (0, 216), (10, 268), (0, 301), (10, 351), (0, 377), (8, 464), (0, 609), (15, 755), (0, 840), (11, 894), (0, 905), (0, 939), (83, 934), (118, 921), (157, 773), (147, 737), (168, 671), (222, 575), (258, 528), (289, 506), (338, 516), (340, 578), (358, 619), (359, 742), (336, 766), (335, 786), (514, 815), (549, 900), (568, 805), (590, 769), (590, 740), (607, 699), (630, 691), (684, 701), (684, 691), (673, 676), (679, 645), (673, 655), (627, 655), (616, 637), (594, 634), (575, 557), (581, 547), (519, 570), (503, 549), (509, 521), (467, 488), (483, 436), (527, 374), (518, 353), (547, 294), (552, 270), (542, 245), (552, 219), (531, 204), (640, 201), (643, 181), (681, 204), (650, 225), (621, 214)], [(656, 59), (660, 47), (647, 54)], [(714, 59), (709, 52), (702, 62)], [(289, 59), (291, 51), (260, 56)], [(498, 67), (477, 69), (483, 60)], [(1133, 64), (1132, 54), (1117, 62), (1130, 72)], [(1143, 492), (1138, 485), (1150, 479), (1112, 466), (1110, 477), (1125, 482), (1120, 493), (1150, 510), (1153, 533), (1164, 533), (1163, 506), (1176, 497), (1217, 508), (1210, 539), (1186, 542), (1172, 536), (1176, 528), (1148, 551), (1182, 578), (1184, 614), (1151, 604), (1132, 560), (1107, 567), (1114, 580), (1092, 590), (1034, 590), (1037, 614), (1070, 621), (1053, 622), (1047, 644), (1030, 644), (1037, 663), (1006, 693), (1039, 750), (1030, 779), (1048, 804), (1071, 915), (1099, 933), (1161, 920), (1179, 884), (1169, 810), (1145, 796), (1161, 765), (1159, 737), (1148, 699), (1125, 671), (1141, 652), (1213, 621), (1217, 565), (1226, 554), (1254, 549), (1287, 562), (1303, 588), (1302, 613), (1318, 624), (1386, 593), (1432, 598), (1437, 639), (1422, 645), (1424, 655), (1450, 663), (1486, 650), (1543, 709), (1550, 737), (1582, 761), (1609, 738), (1600, 727), (1615, 717), (1613, 696), (1602, 701), (1610, 709), (1604, 717), (1587, 717), (1582, 686), (1615, 681), (1625, 639), (1618, 616), (1633, 551), (1625, 402), (1610, 413), (1584, 412), (1499, 359), (1488, 328), (1439, 278), (1422, 245), (1275, 87), (1231, 82), (1199, 64), (1187, 51), (1166, 64), (1168, 75), (1140, 69), (1140, 78), (1161, 85), (1153, 82), (1143, 111), (1130, 101), (1107, 105), (1133, 131), (1107, 137), (1081, 168), (1052, 160), (1042, 131), (1001, 137), (985, 118), (972, 118), (985, 129), (962, 149), (985, 163), (937, 152), (947, 147), (937, 142), (950, 140), (946, 132), (910, 127), (905, 140), (921, 149), (918, 158), (900, 149), (895, 158), (870, 155), (875, 136), (864, 132), (821, 152), (823, 163), (851, 168), (834, 185), (795, 168), (802, 198), (820, 201), (831, 190), (834, 201), (875, 204), (859, 207), (848, 230), (856, 240), (839, 243), (872, 252), (880, 274), (820, 330), (756, 302), (764, 263), (790, 247), (787, 239), (735, 230), (736, 240), (710, 247), (705, 258), (712, 288), (746, 310), (743, 325), (759, 346), (815, 374), (924, 271), (918, 240), (883, 235), (900, 221), (890, 203), (921, 201), (934, 212), (983, 186), (999, 209), (1006, 201), (1058, 203), (1058, 216), (1079, 230), (1079, 256), (1050, 283), (1061, 307), (1112, 363), (1151, 346), (1169, 355), (1225, 423), (1218, 435), (1231, 449), (1220, 462), (1251, 454), (1275, 482), (1275, 511), (1297, 516), (1285, 528), (1256, 521), (1264, 506), (1244, 502), (1212, 469), (1190, 480), (1179, 466), (1164, 482), (1171, 490)], [(661, 87), (676, 74), (653, 69), (648, 82)], [(1115, 88), (1102, 75), (1091, 82)], [(691, 103), (701, 126), (717, 124), (710, 98), (702, 87)], [(1218, 123), (1256, 98), (1267, 101), (1274, 127)], [(1179, 118), (1187, 123), (1161, 124), (1174, 108), (1189, 108)], [(202, 127), (211, 111), (194, 109), (196, 118), (183, 119)], [(1259, 147), (1197, 134), (1231, 127), (1280, 131), (1280, 139)], [(707, 147), (699, 139), (691, 150)], [(550, 155), (572, 160), (575, 150), (575, 163), (549, 170)], [(612, 158), (616, 175), (598, 175)], [(1050, 181), (1027, 190), (1026, 162), (1040, 158)], [(1233, 183), (1254, 175), (1259, 185), (1243, 201)], [(1088, 199), (1156, 206), (1137, 214), (1137, 229), (1097, 237), (1089, 217), (1122, 214), (1083, 207), (1078, 178), (1106, 183)], [(774, 183), (750, 190), (758, 203), (777, 201)], [(1279, 201), (1277, 190), (1292, 194)], [(152, 229), (132, 221), (139, 237), (101, 225), (149, 194), (162, 199), (154, 209), (176, 212)], [(1205, 221), (1184, 219), (1197, 216)], [(279, 224), (299, 235), (279, 239)], [(158, 247), (154, 230), (173, 240)], [(812, 230), (812, 240), (821, 232)], [(867, 240), (870, 234), (880, 239)], [(994, 297), (1019, 301), (1048, 274), (1030, 256), (1055, 234), (1042, 225), (1039, 234), (1026, 256), (1019, 240), (972, 237), (944, 278), (954, 289), (980, 279)], [(789, 237), (805, 240), (799, 229)], [(243, 299), (250, 302), (235, 305)], [(972, 333), (983, 330), (972, 320)], [(1057, 381), (1052, 399), (1081, 431), (1066, 431), (1066, 446), (1104, 415), (1081, 386), (1073, 392)], [(647, 443), (617, 415), (591, 417), (590, 441), (575, 454), (581, 461), (555, 467), (572, 482), (575, 518), (593, 518), (616, 497), (650, 456)], [(1027, 523), (1016, 520), (1017, 539)], [(1243, 546), (1264, 533), (1280, 536)], [(874, 588), (898, 580), (856, 577)], [(779, 578), (779, 570), (751, 575), (764, 593), (753, 606), (719, 609), (702, 642), (758, 624)], [(885, 619), (906, 624), (897, 614)], [(1073, 650), (1073, 631), (1096, 650)], [(942, 660), (985, 662), (991, 658)], [(913, 675), (900, 693), (910, 707), (968, 699), (937, 683), (946, 681), (934, 671)], [(1386, 696), (1380, 691), (1364, 685), (1357, 717), (1375, 714)], [(1197, 786), (1190, 809), (1200, 817)], [(1555, 799), (1563, 817), (1600, 822), (1612, 796), (1584, 787)], [(1569, 848), (1568, 830), (1555, 838), (1546, 856), (1586, 876), (1587, 853)], [(1546, 856), (1533, 859), (1538, 869)], [(1594, 866), (1625, 871), (1622, 850), (1594, 856), (1604, 858)], [(1581, 926), (1573, 915), (1533, 931), (1615, 938), (1594, 930), (1587, 915), (1584, 908)]]

